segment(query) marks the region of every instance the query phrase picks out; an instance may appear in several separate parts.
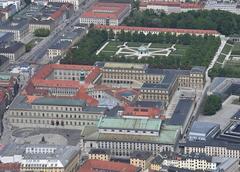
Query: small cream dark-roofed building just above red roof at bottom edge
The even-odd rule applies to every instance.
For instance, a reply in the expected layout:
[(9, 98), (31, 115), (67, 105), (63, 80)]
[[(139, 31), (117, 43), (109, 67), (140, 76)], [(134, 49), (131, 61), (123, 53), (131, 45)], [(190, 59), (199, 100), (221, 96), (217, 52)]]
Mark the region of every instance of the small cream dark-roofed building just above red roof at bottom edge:
[(88, 159), (110, 161), (111, 153), (107, 149), (91, 149), (90, 152), (88, 153)]

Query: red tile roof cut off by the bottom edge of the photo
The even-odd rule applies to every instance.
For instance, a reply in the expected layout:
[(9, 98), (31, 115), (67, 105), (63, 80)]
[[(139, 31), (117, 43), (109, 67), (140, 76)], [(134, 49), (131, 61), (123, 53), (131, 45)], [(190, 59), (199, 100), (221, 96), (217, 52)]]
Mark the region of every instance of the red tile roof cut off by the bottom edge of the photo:
[(136, 172), (137, 167), (126, 163), (91, 159), (87, 160), (79, 169), (79, 172), (97, 171)]

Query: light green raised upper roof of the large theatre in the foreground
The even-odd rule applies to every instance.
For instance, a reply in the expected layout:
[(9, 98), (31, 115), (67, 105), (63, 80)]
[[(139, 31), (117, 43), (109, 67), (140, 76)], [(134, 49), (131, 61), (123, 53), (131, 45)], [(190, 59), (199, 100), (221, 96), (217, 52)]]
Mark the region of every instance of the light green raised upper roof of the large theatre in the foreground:
[(102, 117), (98, 122), (98, 128), (159, 131), (161, 124), (162, 124), (161, 119), (131, 119), (131, 118)]

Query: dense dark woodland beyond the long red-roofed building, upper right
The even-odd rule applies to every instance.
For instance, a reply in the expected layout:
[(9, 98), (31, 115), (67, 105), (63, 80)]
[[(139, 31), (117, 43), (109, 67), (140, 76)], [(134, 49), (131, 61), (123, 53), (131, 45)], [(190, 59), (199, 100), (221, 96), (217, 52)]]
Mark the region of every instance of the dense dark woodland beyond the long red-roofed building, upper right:
[(124, 21), (128, 26), (214, 29), (224, 35), (240, 33), (240, 15), (221, 10), (199, 10), (182, 13), (157, 13), (134, 10)]

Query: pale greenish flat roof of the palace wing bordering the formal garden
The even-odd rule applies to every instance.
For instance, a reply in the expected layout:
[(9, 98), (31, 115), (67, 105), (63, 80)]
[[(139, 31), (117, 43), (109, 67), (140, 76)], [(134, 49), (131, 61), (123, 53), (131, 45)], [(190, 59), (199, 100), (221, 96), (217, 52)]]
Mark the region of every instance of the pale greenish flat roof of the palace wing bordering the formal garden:
[(121, 68), (121, 69), (146, 69), (146, 64), (139, 63), (118, 63), (118, 62), (106, 62), (104, 68)]

